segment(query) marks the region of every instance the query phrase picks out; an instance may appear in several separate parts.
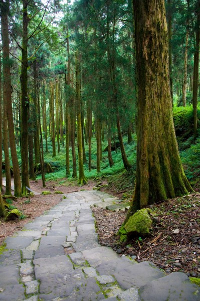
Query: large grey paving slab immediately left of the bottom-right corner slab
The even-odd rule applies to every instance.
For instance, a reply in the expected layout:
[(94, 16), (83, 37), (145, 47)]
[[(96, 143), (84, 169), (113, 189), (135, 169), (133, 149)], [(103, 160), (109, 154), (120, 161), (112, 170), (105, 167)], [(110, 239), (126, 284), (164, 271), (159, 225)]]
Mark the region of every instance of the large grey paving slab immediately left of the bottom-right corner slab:
[(120, 273), (113, 273), (123, 289), (139, 288), (149, 281), (165, 276), (153, 263), (144, 261), (121, 269)]

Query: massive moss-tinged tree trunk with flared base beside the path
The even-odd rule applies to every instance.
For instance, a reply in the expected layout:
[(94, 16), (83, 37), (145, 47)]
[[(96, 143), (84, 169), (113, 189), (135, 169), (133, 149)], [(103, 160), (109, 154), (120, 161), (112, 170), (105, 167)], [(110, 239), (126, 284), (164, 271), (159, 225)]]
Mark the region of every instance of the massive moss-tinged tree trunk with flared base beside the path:
[(133, 0), (137, 67), (137, 167), (129, 210), (192, 191), (180, 162), (169, 86), (164, 0)]

